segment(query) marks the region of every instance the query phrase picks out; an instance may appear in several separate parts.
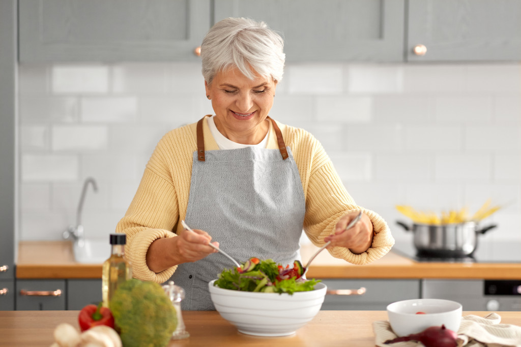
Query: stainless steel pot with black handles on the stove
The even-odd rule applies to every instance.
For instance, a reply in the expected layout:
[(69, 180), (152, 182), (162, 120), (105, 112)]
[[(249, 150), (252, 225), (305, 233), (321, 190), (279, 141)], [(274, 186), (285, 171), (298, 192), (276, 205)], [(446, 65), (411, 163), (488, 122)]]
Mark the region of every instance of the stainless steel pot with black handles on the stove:
[(414, 246), (419, 255), (436, 258), (457, 258), (470, 256), (478, 246), (478, 235), (485, 234), (497, 225), (479, 229), (475, 222), (460, 224), (430, 225), (413, 224), (408, 226), (396, 222), (414, 234)]

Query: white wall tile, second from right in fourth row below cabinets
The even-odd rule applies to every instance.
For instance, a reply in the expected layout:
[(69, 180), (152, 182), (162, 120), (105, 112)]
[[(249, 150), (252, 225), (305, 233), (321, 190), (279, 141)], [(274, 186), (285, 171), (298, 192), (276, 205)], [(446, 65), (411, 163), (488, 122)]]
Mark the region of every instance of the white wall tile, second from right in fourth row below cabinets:
[(437, 155), (436, 181), (487, 183), (492, 178), (492, 159), (489, 155)]

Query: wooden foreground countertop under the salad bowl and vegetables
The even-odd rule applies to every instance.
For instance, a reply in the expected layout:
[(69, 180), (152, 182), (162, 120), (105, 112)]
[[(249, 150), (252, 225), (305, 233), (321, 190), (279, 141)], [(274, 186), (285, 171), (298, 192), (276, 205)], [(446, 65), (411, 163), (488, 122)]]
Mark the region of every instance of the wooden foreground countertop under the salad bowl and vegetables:
[[(60, 323), (79, 329), (79, 311), (0, 311), (0, 346), (45, 346), (54, 342), (53, 331)], [(463, 312), (480, 317), (490, 312)], [(501, 323), (521, 325), (521, 312), (498, 312)], [(169, 347), (233, 346), (374, 346), (373, 322), (386, 320), (386, 311), (320, 311), (315, 318), (292, 336), (256, 337), (245, 335), (216, 311), (182, 313), (190, 337), (170, 340)]]

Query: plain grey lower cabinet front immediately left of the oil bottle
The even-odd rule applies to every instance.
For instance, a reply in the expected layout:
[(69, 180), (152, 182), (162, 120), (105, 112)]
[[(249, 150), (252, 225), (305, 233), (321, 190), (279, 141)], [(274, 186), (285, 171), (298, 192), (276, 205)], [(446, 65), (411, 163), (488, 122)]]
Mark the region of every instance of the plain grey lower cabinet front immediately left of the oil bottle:
[(68, 279), (67, 310), (81, 310), (102, 301), (101, 279)]

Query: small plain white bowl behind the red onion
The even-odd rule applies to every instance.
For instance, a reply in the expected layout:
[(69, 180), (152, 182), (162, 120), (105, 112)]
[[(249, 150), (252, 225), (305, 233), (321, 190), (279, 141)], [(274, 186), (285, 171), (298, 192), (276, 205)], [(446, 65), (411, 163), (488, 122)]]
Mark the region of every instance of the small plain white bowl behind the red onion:
[[(424, 312), (425, 314), (417, 314)], [(387, 306), (391, 328), (397, 336), (424, 331), (428, 327), (445, 325), (454, 332), (460, 328), (462, 305), (442, 299), (412, 299)]]

